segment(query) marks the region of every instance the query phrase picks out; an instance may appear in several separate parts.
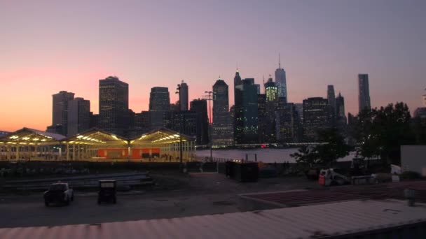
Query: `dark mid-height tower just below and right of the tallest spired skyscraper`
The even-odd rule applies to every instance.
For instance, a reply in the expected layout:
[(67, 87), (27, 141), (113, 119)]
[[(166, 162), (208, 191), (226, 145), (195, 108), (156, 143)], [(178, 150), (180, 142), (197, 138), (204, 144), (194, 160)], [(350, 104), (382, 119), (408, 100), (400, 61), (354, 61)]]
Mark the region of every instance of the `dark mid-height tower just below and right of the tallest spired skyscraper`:
[(280, 143), (297, 143), (301, 140), (301, 122), (294, 103), (280, 101), (275, 111), (275, 129)]

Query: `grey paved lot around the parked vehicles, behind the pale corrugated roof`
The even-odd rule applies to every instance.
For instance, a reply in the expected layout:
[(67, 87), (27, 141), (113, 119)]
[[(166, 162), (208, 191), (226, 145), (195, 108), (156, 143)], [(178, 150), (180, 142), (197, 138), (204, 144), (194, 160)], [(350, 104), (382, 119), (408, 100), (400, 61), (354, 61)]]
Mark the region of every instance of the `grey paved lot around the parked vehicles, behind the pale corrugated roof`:
[[(305, 178), (262, 179), (238, 183), (216, 173), (153, 174), (158, 186), (135, 194), (118, 195), (116, 205), (97, 205), (95, 192), (76, 191), (69, 206), (46, 208), (42, 194), (0, 195), (0, 228), (95, 224), (136, 219), (209, 215), (248, 210), (238, 194), (319, 188)], [(142, 190), (142, 189), (141, 189)]]

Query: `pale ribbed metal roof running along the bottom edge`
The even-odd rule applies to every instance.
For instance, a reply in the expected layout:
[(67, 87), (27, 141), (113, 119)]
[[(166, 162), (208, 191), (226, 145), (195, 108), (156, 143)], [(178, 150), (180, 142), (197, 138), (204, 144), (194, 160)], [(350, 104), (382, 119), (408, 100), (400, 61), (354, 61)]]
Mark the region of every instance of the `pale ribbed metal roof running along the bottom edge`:
[(426, 222), (424, 205), (349, 201), (224, 215), (0, 229), (0, 238), (312, 238), (418, 222)]

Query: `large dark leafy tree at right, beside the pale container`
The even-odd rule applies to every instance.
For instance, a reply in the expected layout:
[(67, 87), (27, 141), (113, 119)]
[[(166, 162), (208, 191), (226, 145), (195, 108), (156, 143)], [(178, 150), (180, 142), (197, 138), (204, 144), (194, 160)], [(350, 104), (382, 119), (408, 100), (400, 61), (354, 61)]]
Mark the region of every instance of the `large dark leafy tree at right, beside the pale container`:
[(380, 157), (384, 164), (400, 163), (401, 145), (415, 143), (406, 103), (364, 110), (357, 116), (354, 136), (364, 158)]

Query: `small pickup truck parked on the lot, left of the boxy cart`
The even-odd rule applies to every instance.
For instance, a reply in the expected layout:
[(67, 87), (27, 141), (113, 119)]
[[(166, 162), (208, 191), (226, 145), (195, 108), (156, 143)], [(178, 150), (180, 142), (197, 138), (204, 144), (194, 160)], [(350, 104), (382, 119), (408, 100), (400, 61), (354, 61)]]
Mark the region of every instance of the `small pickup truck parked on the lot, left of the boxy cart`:
[(74, 191), (65, 182), (57, 182), (50, 184), (48, 191), (44, 192), (44, 205), (49, 203), (65, 203), (69, 205), (70, 201), (74, 201)]

